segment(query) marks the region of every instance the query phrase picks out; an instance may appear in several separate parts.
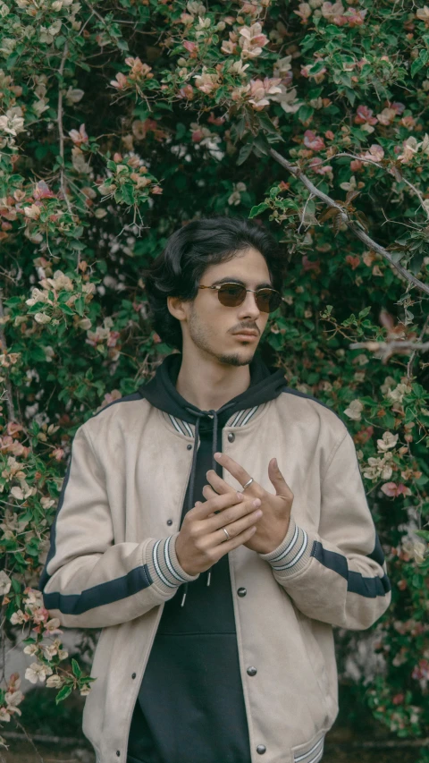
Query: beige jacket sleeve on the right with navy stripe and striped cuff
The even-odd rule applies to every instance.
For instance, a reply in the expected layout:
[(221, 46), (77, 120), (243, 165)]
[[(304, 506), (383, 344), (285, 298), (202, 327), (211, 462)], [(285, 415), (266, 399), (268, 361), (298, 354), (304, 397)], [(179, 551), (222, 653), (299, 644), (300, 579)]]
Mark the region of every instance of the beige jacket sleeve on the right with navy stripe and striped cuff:
[(359, 631), (383, 615), (391, 585), (348, 430), (321, 482), (319, 532), (294, 521), (292, 504), (281, 545), (259, 555), (307, 617)]

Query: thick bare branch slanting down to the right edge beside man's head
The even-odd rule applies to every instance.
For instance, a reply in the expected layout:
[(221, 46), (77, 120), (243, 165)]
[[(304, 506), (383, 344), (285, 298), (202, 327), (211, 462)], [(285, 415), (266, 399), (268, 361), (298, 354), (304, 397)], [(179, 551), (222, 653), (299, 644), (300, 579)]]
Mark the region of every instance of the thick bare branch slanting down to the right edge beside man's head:
[(324, 201), (324, 203), (328, 207), (332, 207), (334, 209), (338, 209), (338, 211), (341, 213), (341, 220), (343, 223), (347, 225), (349, 230), (355, 234), (355, 236), (361, 241), (366, 244), (369, 249), (372, 249), (378, 254), (381, 254), (384, 259), (387, 259), (387, 261), (391, 264), (391, 267), (394, 267), (395, 270), (400, 273), (400, 275), (405, 278), (406, 281), (408, 281), (409, 284), (413, 284), (413, 286), (416, 286), (417, 289), (419, 289), (421, 292), (425, 292), (425, 294), (429, 294), (429, 284), (424, 284), (422, 281), (419, 281), (416, 276), (413, 276), (412, 273), (409, 273), (408, 270), (406, 270), (405, 267), (402, 267), (399, 262), (394, 262), (391, 253), (384, 249), (381, 244), (374, 242), (370, 236), (368, 236), (365, 231), (363, 231), (361, 228), (358, 227), (355, 223), (353, 223), (352, 220), (350, 220), (349, 215), (345, 211), (345, 209), (340, 205), (337, 204), (336, 201), (331, 199), (330, 196), (327, 196), (324, 191), (320, 191), (318, 188), (316, 188), (315, 184), (307, 178), (307, 175), (305, 175), (299, 167), (296, 165), (291, 165), (290, 162), (288, 162), (287, 159), (282, 157), (282, 154), (279, 154), (278, 151), (276, 151), (274, 148), (269, 149), (269, 154), (275, 159), (276, 162), (279, 163), (279, 165), (282, 165), (284, 169), (288, 170), (290, 174), (293, 174), (294, 177), (296, 177), (300, 182), (303, 183), (303, 185), (306, 186), (307, 190), (310, 191), (314, 196), (316, 196), (318, 199), (321, 199)]

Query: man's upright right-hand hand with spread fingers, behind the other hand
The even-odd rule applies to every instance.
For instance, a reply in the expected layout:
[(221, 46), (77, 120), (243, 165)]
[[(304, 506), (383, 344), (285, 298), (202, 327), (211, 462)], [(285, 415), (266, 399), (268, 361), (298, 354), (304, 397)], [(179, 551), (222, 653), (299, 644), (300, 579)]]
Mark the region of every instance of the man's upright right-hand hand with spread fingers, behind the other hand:
[[(240, 463), (234, 461), (229, 455), (214, 454), (214, 458), (224, 469), (230, 472), (232, 477), (240, 482), (241, 486), (245, 485), (252, 476), (240, 466)], [(226, 493), (230, 493), (231, 496), (232, 494), (235, 495), (235, 489), (228, 485), (222, 477), (219, 477), (213, 469), (206, 472), (206, 477), (210, 485), (203, 487), (203, 496), (207, 500), (214, 498), (216, 495)], [(268, 493), (255, 479), (242, 493), (244, 498), (248, 500), (250, 498), (259, 498), (261, 501), (260, 508), (263, 515), (257, 522), (257, 531), (252, 538), (249, 538), (247, 542), (242, 544), (252, 551), (257, 551), (259, 554), (269, 554), (270, 551), (273, 551), (274, 548), (277, 548), (282, 543), (282, 539), (289, 528), (290, 509), (293, 502), (293, 494), (275, 458), (272, 458), (268, 463), (268, 477), (275, 489), (275, 496), (272, 493)]]

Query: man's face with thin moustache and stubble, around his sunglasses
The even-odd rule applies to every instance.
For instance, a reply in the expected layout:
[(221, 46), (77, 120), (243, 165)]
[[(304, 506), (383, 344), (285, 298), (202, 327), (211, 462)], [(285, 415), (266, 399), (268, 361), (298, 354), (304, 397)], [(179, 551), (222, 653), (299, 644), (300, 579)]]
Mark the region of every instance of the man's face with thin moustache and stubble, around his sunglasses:
[[(210, 265), (200, 284), (212, 286), (219, 279), (245, 284), (247, 289), (271, 286), (268, 267), (262, 254), (253, 248), (242, 250), (228, 262)], [(247, 292), (246, 299), (237, 307), (226, 307), (214, 289), (198, 289), (194, 301), (182, 302), (186, 319), (181, 321), (183, 351), (189, 343), (231, 366), (244, 366), (251, 362), (264, 333), (268, 313), (260, 312), (255, 294)], [(255, 329), (256, 336), (236, 335), (240, 328)]]

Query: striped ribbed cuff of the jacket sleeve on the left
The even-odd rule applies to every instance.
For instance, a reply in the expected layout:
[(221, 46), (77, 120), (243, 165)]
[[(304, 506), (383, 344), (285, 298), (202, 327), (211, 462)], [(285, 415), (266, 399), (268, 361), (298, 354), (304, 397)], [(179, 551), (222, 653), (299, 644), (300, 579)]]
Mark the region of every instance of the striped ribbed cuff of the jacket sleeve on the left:
[(169, 535), (161, 540), (150, 540), (146, 547), (146, 564), (150, 577), (157, 589), (163, 593), (172, 593), (181, 583), (196, 581), (197, 575), (189, 575), (179, 564), (176, 555), (176, 538), (179, 535)]

